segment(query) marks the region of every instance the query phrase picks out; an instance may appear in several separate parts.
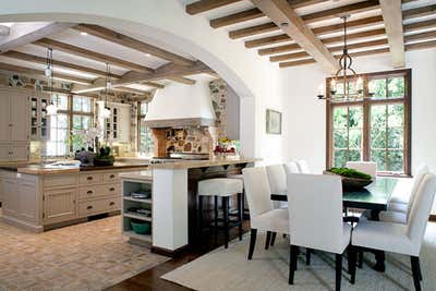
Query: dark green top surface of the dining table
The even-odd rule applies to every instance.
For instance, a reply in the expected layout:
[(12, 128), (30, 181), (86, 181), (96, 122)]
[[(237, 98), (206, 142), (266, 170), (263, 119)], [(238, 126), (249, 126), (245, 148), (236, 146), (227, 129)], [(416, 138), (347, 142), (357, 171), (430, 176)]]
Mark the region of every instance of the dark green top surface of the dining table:
[[(343, 192), (343, 207), (386, 210), (387, 204), (397, 184), (395, 178), (377, 178), (373, 183), (359, 191)], [(286, 193), (271, 194), (272, 201), (288, 201)]]

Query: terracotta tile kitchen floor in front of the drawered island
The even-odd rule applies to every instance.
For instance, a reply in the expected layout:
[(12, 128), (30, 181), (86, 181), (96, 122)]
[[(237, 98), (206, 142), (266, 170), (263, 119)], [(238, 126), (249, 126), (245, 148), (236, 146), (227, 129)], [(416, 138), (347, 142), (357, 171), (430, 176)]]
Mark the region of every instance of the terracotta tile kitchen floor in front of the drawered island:
[(0, 290), (101, 290), (168, 259), (128, 243), (120, 219), (39, 234), (0, 222)]

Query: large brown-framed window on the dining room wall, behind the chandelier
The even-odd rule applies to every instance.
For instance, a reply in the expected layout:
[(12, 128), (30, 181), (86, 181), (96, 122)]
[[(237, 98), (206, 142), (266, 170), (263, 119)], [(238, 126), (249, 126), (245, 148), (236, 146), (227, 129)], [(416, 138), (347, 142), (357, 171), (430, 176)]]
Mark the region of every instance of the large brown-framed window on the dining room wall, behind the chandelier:
[(410, 174), (410, 70), (364, 74), (364, 92), (371, 98), (327, 101), (328, 168), (371, 160), (382, 174)]

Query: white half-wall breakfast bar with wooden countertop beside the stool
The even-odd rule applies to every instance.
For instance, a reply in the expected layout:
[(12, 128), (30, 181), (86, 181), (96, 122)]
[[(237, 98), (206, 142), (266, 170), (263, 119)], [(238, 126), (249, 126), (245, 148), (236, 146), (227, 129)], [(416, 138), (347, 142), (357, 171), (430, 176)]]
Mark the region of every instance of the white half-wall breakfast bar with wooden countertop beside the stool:
[[(198, 244), (198, 181), (240, 174), (243, 168), (255, 161), (238, 157), (153, 165), (152, 251), (173, 256), (187, 246)], [(211, 209), (204, 208), (206, 211)]]

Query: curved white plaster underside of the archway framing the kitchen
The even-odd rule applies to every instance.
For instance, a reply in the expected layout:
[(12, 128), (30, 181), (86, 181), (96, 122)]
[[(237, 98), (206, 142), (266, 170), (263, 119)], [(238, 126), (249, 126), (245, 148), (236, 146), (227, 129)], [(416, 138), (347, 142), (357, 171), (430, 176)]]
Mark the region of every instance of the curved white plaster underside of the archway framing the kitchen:
[[(17, 2), (23, 2), (22, 4)], [(107, 27), (122, 27), (122, 31), (125, 33), (132, 33), (135, 36), (142, 36), (144, 39), (153, 39), (154, 41), (165, 44), (170, 47), (177, 47), (179, 50), (183, 50), (184, 52), (193, 56), (195, 59), (198, 59), (206, 63), (209, 68), (215, 70), (238, 94), (240, 97), (240, 119), (241, 119), (241, 148), (242, 153), (247, 157), (256, 156), (256, 95), (253, 92), (254, 83), (258, 82), (247, 82), (243, 80), (244, 74), (240, 72), (235, 72), (234, 65), (229, 65), (229, 62), (222, 57), (217, 57), (214, 51), (207, 49), (206, 46), (198, 45), (198, 41), (195, 41), (195, 38), (183, 36), (180, 32), (177, 32), (173, 25), (159, 25), (159, 24), (168, 24), (161, 23), (159, 20), (156, 20), (158, 16), (158, 11), (168, 12), (170, 8), (171, 13), (173, 13), (175, 9), (175, 13), (181, 13), (178, 16), (179, 20), (173, 20), (174, 22), (181, 21), (180, 19), (185, 19), (183, 10), (181, 5), (177, 1), (162, 1), (157, 7), (157, 12), (152, 13), (148, 11), (146, 14), (154, 15), (155, 19), (148, 17), (146, 21), (138, 21), (137, 17), (133, 17), (129, 13), (124, 13), (126, 16), (120, 17), (116, 15), (123, 15), (122, 5), (116, 3), (109, 3), (110, 10), (100, 11), (100, 13), (96, 13), (95, 8), (87, 10), (87, 5), (89, 3), (84, 4), (86, 1), (72, 1), (74, 3), (59, 3), (58, 1), (37, 1), (38, 5), (33, 1), (17, 1), (14, 2), (13, 5), (5, 5), (2, 8), (0, 12), (0, 22), (71, 22), (71, 23), (90, 23), (90, 24), (99, 24)], [(32, 2), (32, 3), (31, 3)], [(45, 5), (47, 2), (51, 2), (52, 5)], [(82, 2), (77, 3), (77, 2)], [(99, 2), (99, 1), (96, 1)], [(114, 1), (118, 2), (119, 1)], [(148, 1), (142, 1), (142, 3)], [(165, 2), (165, 3), (164, 3)], [(100, 5), (106, 5), (106, 1), (100, 2)], [(149, 5), (149, 3), (144, 4)], [(175, 5), (175, 7), (174, 7)], [(94, 5), (93, 5), (94, 7)], [(152, 4), (153, 7), (153, 4)], [(154, 9), (156, 9), (154, 7)], [(107, 7), (106, 7), (107, 8)], [(121, 11), (120, 11), (120, 10)], [(94, 12), (94, 13), (93, 13)], [(173, 15), (173, 14), (172, 14)], [(187, 15), (189, 16), (189, 15)], [(186, 20), (186, 19), (185, 19)], [(187, 19), (191, 22), (190, 19)], [(198, 22), (198, 20), (196, 20)], [(192, 23), (185, 24), (186, 27), (193, 25)], [(195, 24), (194, 24), (195, 26)], [(214, 44), (211, 44), (214, 46)], [(226, 49), (226, 48), (223, 48)], [(243, 72), (242, 72), (243, 73)], [(252, 83), (250, 86), (247, 83)], [(258, 94), (257, 94), (258, 95)]]

